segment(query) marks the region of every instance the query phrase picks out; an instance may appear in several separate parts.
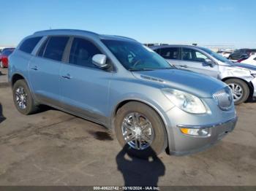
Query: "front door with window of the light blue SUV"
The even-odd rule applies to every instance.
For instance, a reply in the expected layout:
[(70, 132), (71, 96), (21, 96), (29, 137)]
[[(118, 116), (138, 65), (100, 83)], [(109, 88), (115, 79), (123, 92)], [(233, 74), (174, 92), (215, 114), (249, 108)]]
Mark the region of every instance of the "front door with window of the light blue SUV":
[(61, 66), (60, 73), (62, 106), (80, 117), (105, 123), (113, 72), (92, 63), (92, 57), (102, 51), (88, 39), (75, 37), (69, 49), (68, 63)]

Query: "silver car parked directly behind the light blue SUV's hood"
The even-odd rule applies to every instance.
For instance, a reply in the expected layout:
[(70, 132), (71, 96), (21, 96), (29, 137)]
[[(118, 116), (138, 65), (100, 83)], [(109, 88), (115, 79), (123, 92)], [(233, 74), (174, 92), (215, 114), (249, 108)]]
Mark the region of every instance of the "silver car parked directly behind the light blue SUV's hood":
[(256, 67), (233, 63), (204, 47), (170, 45), (152, 47), (170, 64), (226, 82), (233, 91), (235, 104), (256, 96)]

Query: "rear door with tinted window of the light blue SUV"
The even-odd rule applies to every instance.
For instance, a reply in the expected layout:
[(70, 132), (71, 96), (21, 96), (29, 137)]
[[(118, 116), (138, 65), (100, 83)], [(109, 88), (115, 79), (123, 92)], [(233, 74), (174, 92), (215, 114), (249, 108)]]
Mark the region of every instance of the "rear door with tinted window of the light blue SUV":
[(60, 106), (60, 76), (69, 36), (49, 36), (29, 63), (29, 78), (37, 100)]

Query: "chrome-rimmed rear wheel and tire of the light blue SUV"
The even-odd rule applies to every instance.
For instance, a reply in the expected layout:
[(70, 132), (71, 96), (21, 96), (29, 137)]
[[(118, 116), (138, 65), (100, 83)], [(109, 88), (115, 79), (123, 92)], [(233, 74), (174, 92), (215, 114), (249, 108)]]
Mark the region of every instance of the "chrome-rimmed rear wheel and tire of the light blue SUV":
[(34, 104), (29, 86), (24, 79), (19, 79), (12, 87), (13, 101), (21, 114), (32, 114), (38, 107)]

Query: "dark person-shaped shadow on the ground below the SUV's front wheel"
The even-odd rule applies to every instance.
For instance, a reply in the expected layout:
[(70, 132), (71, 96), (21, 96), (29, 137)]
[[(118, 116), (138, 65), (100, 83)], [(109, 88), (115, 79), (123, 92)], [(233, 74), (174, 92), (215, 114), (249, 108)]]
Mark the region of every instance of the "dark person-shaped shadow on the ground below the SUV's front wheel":
[(157, 187), (159, 176), (165, 175), (165, 165), (162, 160), (151, 147), (148, 149), (152, 155), (146, 159), (130, 155), (127, 149), (131, 149), (128, 144), (116, 156), (118, 171), (121, 171), (124, 177), (124, 186)]

